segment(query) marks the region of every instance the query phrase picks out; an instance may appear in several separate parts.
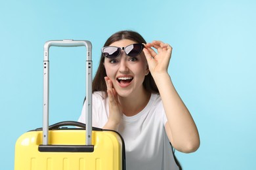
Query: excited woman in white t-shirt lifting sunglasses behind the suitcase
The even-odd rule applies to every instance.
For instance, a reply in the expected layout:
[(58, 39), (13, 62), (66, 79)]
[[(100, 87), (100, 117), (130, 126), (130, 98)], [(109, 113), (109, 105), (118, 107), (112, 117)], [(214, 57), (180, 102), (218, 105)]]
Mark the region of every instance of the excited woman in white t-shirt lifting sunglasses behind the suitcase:
[[(171, 52), (169, 44), (146, 43), (134, 31), (114, 33), (102, 48), (93, 80), (93, 126), (121, 134), (127, 169), (179, 169), (171, 145), (186, 153), (200, 146), (196, 124), (167, 72)], [(85, 105), (79, 122), (85, 123), (84, 112)]]

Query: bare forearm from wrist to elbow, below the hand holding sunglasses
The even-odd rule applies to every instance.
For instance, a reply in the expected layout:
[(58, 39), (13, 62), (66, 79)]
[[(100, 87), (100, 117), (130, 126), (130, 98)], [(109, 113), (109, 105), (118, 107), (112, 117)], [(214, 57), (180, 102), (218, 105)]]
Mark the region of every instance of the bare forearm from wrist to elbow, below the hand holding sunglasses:
[(198, 129), (189, 110), (175, 90), (168, 73), (154, 76), (161, 95), (163, 107), (167, 116), (167, 125), (170, 129), (169, 139), (178, 150), (185, 151), (198, 148), (200, 139)]

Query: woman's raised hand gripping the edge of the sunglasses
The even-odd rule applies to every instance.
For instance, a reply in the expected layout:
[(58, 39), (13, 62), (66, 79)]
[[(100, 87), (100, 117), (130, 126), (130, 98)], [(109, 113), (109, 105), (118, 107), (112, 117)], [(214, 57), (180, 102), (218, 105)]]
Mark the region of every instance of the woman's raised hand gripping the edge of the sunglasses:
[[(144, 46), (143, 52), (148, 61), (148, 67), (152, 76), (158, 75), (159, 73), (167, 73), (173, 48), (169, 44), (161, 41), (153, 41), (144, 44)], [(157, 52), (155, 52), (153, 48), (155, 48)]]

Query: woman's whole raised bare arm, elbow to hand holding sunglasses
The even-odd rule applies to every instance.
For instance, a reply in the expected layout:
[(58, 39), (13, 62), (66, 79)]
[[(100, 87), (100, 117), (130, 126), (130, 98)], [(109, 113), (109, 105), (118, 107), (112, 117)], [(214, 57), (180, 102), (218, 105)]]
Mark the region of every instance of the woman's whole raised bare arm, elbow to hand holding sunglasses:
[[(156, 48), (157, 52), (153, 50)], [(194, 152), (200, 146), (200, 137), (194, 120), (175, 90), (168, 74), (172, 47), (161, 41), (145, 44), (144, 54), (163, 101), (167, 116), (165, 131), (169, 141), (181, 152)]]

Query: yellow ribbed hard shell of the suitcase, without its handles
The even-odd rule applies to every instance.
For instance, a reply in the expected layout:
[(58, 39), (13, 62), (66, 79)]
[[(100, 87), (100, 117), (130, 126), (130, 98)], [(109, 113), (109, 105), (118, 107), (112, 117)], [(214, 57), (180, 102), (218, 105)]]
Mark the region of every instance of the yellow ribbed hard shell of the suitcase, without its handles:
[[(85, 130), (56, 129), (49, 131), (49, 144), (85, 144)], [(114, 131), (93, 131), (93, 152), (40, 152), (42, 131), (29, 131), (16, 141), (15, 170), (94, 170), (123, 169), (122, 139)]]

